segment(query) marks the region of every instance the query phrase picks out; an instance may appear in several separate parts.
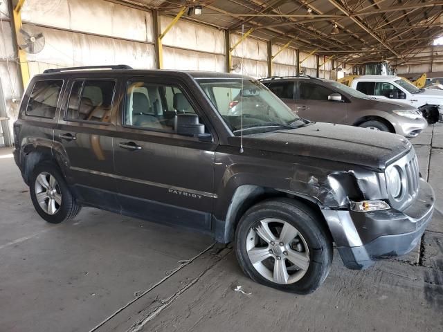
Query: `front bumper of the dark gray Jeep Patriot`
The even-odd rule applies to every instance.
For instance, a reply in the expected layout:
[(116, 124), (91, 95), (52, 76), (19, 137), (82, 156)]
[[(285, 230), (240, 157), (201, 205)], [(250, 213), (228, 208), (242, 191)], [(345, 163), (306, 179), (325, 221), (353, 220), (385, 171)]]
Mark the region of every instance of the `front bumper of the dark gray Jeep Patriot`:
[(420, 179), (414, 203), (400, 212), (323, 210), (343, 264), (353, 270), (368, 268), (379, 259), (404, 255), (413, 250), (432, 219), (435, 195)]

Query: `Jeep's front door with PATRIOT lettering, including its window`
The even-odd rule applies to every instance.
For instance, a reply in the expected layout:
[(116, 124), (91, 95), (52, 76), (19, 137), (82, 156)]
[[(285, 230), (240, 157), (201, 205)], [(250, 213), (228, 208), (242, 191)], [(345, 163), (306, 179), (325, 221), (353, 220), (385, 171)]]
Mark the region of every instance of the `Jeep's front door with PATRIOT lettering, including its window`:
[(207, 124), (201, 109), (177, 81), (134, 78), (125, 89), (114, 139), (123, 213), (210, 231), (217, 138), (192, 134)]

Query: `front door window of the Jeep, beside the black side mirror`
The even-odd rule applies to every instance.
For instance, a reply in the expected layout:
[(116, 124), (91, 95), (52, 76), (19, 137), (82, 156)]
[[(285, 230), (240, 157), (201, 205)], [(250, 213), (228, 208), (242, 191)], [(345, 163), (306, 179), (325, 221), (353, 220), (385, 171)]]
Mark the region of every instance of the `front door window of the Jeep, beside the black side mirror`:
[(123, 124), (176, 132), (176, 118), (182, 114), (192, 114), (196, 117), (194, 108), (179, 87), (129, 82)]

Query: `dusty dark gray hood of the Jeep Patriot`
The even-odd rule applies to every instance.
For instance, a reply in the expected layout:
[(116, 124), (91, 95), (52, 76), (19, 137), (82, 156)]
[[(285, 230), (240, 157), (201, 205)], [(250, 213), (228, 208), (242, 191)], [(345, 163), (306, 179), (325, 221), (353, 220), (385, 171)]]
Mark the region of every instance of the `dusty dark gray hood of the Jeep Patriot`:
[(243, 145), (378, 169), (383, 169), (412, 147), (406, 138), (393, 133), (321, 122), (244, 136)]

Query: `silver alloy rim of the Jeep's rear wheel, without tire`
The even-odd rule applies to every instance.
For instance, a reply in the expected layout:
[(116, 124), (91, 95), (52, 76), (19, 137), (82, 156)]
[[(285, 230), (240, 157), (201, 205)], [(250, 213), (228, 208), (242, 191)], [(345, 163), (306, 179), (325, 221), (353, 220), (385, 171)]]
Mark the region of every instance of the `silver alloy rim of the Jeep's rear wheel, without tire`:
[(56, 214), (62, 206), (62, 192), (55, 177), (47, 172), (37, 175), (35, 197), (40, 208), (47, 214)]

